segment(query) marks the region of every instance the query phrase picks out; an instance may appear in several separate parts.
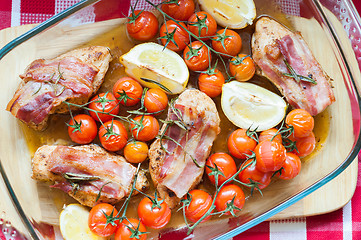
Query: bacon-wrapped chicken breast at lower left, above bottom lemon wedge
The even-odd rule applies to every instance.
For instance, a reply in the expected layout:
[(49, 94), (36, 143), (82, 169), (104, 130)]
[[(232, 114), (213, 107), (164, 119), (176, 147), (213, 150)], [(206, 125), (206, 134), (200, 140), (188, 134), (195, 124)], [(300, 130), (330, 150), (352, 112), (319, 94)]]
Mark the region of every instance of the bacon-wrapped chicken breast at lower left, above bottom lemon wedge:
[[(96, 145), (42, 146), (35, 153), (32, 169), (34, 179), (55, 182), (52, 187), (87, 206), (96, 204), (100, 190), (100, 201), (120, 201), (130, 193), (136, 173), (136, 168), (123, 157), (109, 154)], [(83, 180), (73, 181), (68, 176)], [(140, 190), (147, 187), (144, 178), (139, 181)]]

